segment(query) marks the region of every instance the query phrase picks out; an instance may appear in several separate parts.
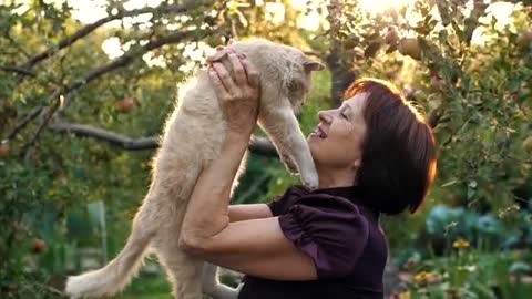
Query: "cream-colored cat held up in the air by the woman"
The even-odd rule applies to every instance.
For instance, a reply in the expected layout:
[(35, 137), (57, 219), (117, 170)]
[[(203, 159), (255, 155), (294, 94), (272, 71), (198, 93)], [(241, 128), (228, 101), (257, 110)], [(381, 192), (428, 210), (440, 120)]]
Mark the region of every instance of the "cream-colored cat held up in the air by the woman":
[[(233, 43), (231, 49), (244, 53), (259, 72), (259, 125), (287, 167), (299, 172), (306, 185), (317, 187), (315, 165), (294, 111), (309, 89), (310, 72), (321, 70), (323, 65), (299, 50), (265, 40)], [(232, 69), (225, 56), (217, 59)], [(136, 213), (125, 247), (104, 268), (70, 277), (65, 291), (72, 298), (99, 297), (122, 290), (151, 250), (166, 269), (175, 298), (202, 298), (204, 262), (182, 251), (177, 239), (196, 178), (219, 154), (226, 122), (205, 71), (200, 71), (196, 80), (182, 87), (180, 94), (183, 96), (166, 122), (154, 158), (150, 190)], [(227, 287), (217, 285), (212, 277), (216, 274), (213, 267), (206, 269), (211, 276), (203, 279), (208, 288), (206, 292), (218, 298), (236, 296)]]

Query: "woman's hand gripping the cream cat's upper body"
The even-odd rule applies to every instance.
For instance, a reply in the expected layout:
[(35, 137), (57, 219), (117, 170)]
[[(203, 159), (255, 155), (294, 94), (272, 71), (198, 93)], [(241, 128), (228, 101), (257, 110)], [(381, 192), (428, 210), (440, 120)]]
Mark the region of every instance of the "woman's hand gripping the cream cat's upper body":
[(259, 101), (259, 79), (255, 66), (244, 54), (229, 52), (233, 76), (224, 64), (214, 61), (208, 74), (227, 121), (227, 128), (233, 133), (250, 135), (257, 122)]

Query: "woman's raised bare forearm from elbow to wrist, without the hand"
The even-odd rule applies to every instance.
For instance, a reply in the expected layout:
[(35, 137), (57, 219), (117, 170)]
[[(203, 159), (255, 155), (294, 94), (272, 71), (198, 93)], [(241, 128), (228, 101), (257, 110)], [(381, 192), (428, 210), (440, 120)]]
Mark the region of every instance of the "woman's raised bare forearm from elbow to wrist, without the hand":
[(183, 219), (181, 241), (195, 246), (229, 223), (231, 188), (247, 150), (250, 133), (228, 131), (218, 158), (201, 173)]

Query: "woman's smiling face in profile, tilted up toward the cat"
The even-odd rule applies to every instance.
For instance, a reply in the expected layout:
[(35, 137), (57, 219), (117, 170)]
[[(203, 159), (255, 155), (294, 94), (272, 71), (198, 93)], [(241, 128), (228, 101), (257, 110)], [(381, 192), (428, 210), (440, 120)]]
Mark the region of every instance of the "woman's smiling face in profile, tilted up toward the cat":
[(366, 135), (364, 105), (367, 93), (358, 93), (335, 110), (320, 111), (319, 124), (307, 138), (318, 168), (360, 166), (361, 145)]

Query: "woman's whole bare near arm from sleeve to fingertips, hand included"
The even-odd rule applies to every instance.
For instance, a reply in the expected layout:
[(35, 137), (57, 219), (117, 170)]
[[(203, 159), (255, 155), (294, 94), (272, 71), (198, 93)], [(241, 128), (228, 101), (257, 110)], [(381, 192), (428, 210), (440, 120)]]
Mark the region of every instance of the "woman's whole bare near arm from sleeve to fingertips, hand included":
[[(180, 246), (215, 265), (244, 274), (285, 280), (317, 278), (316, 267), (283, 234), (278, 218), (229, 223), (229, 193), (241, 159), (256, 123), (258, 74), (247, 60), (247, 70), (229, 55), (235, 82), (219, 63), (211, 79), (227, 120), (221, 155), (200, 175), (188, 203)], [(218, 78), (219, 75), (219, 78)], [(248, 83), (248, 82), (249, 83)], [(267, 208), (267, 207), (266, 207)], [(269, 212), (269, 210), (268, 210)]]

